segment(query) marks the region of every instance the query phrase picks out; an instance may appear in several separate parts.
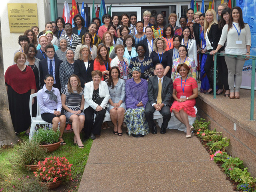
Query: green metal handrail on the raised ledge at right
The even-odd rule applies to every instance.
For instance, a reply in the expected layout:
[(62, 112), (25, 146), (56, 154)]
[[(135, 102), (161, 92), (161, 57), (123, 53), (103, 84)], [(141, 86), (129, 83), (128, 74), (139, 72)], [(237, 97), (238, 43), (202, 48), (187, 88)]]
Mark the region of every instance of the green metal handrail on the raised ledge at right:
[[(205, 52), (205, 54), (212, 55), (210, 52)], [(216, 99), (216, 68), (217, 68), (217, 56), (225, 57), (236, 57), (236, 58), (248, 58), (252, 59), (252, 84), (251, 84), (251, 110), (250, 110), (250, 120), (254, 120), (254, 81), (255, 81), (255, 64), (256, 56), (253, 55), (239, 55), (239, 54), (226, 54), (226, 53), (216, 53), (214, 54), (214, 82), (213, 82), (213, 98)]]

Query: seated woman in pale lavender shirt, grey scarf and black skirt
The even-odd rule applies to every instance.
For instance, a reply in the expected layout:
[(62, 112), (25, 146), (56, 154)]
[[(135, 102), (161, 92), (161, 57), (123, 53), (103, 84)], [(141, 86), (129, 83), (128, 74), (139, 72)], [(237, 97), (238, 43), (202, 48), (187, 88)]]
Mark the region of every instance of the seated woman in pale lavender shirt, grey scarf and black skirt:
[(66, 116), (61, 110), (61, 98), (60, 91), (53, 87), (54, 79), (53, 76), (47, 74), (44, 78), (45, 85), (37, 94), (37, 102), (41, 109), (40, 114), (42, 120), (52, 123), (52, 129), (57, 130), (58, 124), (60, 123), (60, 144), (66, 145), (62, 135), (66, 126)]

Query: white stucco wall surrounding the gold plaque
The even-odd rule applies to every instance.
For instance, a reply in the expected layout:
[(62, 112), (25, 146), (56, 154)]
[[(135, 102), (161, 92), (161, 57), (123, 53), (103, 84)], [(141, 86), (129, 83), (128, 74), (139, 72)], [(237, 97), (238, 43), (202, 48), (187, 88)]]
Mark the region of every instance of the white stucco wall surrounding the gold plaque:
[[(4, 1), (4, 0), (2, 0)], [(4, 56), (4, 72), (12, 65), (14, 52), (18, 50), (18, 36), (23, 33), (10, 33), (9, 20), (8, 20), (8, 3), (36, 3), (37, 15), (38, 15), (38, 27), (39, 31), (44, 30), (46, 22), (50, 21), (49, 0), (7, 0), (2, 2), (0, 6), (0, 19), (2, 30), (2, 42), (3, 42), (3, 56)]]

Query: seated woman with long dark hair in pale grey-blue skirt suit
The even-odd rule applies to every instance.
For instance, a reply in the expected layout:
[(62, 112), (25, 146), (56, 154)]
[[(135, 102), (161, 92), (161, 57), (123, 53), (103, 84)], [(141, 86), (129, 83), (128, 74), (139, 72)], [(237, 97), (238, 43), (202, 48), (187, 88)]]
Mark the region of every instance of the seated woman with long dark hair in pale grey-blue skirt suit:
[(110, 100), (108, 103), (108, 112), (110, 113), (110, 119), (114, 124), (114, 134), (122, 136), (122, 124), (124, 122), (124, 112), (126, 106), (125, 99), (125, 81), (120, 78), (120, 70), (114, 66), (110, 68), (108, 78), (108, 90), (110, 94)]

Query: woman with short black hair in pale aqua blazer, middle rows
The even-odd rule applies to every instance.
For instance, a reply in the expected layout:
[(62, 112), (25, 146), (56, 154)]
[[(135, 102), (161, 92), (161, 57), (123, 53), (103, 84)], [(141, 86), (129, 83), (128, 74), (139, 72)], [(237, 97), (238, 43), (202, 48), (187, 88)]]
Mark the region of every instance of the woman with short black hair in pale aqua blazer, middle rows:
[(135, 48), (135, 40), (133, 36), (126, 35), (124, 37), (124, 57), (128, 59), (130, 65), (131, 58), (138, 56)]

